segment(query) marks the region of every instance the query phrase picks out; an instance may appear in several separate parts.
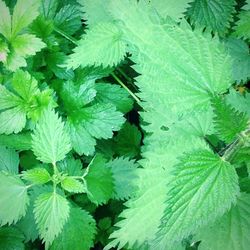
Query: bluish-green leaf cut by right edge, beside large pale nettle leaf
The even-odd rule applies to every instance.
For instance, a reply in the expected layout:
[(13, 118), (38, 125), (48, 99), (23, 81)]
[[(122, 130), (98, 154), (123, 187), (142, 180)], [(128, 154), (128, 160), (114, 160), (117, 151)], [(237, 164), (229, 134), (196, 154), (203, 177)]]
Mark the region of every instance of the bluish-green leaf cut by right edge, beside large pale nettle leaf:
[(250, 54), (248, 44), (240, 39), (229, 38), (226, 47), (233, 58), (233, 79), (237, 82), (247, 82), (250, 78)]

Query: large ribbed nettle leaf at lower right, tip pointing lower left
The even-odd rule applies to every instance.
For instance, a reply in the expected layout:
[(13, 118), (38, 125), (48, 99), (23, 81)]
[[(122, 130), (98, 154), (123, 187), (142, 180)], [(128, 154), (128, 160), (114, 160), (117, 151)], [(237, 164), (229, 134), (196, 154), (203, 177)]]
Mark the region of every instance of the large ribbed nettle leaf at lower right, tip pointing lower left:
[[(239, 194), (230, 163), (208, 150), (187, 153), (175, 166), (154, 247), (163, 249), (222, 216)], [(162, 248), (163, 247), (163, 248)]]

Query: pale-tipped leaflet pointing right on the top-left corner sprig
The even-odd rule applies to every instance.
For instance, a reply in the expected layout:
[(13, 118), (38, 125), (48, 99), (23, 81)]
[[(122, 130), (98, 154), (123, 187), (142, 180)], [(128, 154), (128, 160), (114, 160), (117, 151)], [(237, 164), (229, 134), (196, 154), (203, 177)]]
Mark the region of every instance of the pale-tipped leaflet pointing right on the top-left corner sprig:
[(15, 53), (22, 57), (34, 56), (45, 47), (45, 43), (40, 38), (31, 34), (18, 35), (11, 44)]

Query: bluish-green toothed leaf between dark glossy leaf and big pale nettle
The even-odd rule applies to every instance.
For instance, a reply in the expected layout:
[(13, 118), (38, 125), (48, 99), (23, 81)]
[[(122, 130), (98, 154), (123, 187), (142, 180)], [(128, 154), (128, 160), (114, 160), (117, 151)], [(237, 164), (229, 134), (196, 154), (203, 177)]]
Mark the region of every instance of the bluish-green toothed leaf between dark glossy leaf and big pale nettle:
[(128, 199), (137, 191), (137, 164), (128, 158), (116, 158), (106, 164), (111, 168), (114, 178), (114, 198)]

